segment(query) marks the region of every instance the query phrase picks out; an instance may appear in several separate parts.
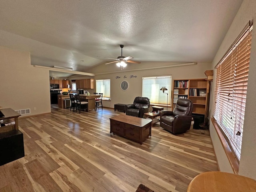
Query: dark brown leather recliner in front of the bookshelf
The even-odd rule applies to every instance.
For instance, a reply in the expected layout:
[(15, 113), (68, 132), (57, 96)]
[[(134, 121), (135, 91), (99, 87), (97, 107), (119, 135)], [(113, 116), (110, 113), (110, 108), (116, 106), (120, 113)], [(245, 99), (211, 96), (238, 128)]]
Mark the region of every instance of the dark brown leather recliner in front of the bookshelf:
[(193, 103), (188, 99), (178, 99), (173, 111), (161, 111), (160, 126), (172, 134), (184, 133), (190, 129)]

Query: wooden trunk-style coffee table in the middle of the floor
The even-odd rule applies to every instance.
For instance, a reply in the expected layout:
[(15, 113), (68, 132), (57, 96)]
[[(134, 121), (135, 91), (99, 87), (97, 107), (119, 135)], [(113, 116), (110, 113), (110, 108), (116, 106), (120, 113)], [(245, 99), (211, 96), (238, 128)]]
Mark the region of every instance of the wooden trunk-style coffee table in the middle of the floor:
[(151, 136), (152, 120), (133, 117), (129, 115), (118, 115), (110, 119), (110, 133), (134, 140), (142, 144)]

